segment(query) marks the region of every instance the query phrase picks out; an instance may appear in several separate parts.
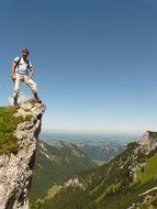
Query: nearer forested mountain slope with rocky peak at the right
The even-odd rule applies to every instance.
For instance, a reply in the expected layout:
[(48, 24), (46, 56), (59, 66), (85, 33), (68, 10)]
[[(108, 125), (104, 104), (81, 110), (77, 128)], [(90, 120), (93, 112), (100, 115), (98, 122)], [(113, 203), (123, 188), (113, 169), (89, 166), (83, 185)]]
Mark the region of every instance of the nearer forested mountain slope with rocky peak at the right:
[(157, 133), (139, 141), (108, 164), (72, 174), (38, 209), (157, 208)]

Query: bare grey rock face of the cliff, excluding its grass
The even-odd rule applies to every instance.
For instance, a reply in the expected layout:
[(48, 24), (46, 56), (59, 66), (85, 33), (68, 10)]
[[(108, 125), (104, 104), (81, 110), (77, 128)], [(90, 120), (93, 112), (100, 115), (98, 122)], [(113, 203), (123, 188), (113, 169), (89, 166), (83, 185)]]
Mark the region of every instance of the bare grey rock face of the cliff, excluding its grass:
[(18, 154), (0, 156), (0, 209), (27, 209), (29, 190), (34, 167), (37, 138), (41, 131), (43, 103), (24, 101), (16, 116), (32, 116), (31, 121), (20, 123), (15, 130)]

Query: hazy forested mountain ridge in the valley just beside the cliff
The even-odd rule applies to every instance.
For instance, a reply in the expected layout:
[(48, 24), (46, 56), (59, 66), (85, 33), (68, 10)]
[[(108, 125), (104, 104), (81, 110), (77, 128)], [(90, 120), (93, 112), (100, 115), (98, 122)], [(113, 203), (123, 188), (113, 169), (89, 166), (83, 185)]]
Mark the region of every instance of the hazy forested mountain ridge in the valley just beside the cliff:
[(78, 146), (71, 143), (57, 142), (55, 145), (40, 141), (32, 179), (30, 201), (36, 202), (47, 198), (67, 177), (83, 169), (97, 167)]

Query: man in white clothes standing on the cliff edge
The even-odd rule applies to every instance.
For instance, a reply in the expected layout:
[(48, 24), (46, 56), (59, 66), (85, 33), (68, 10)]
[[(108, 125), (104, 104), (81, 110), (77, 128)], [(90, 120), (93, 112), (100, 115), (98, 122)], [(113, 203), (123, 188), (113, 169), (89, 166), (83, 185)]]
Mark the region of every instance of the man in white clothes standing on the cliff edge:
[(37, 96), (36, 84), (32, 80), (34, 69), (31, 62), (27, 59), (29, 50), (22, 50), (22, 56), (15, 57), (11, 66), (11, 78), (14, 81), (14, 91), (13, 91), (13, 105), (18, 106), (18, 97), (20, 91), (20, 84), (23, 81), (26, 84), (33, 95), (36, 102), (42, 102)]

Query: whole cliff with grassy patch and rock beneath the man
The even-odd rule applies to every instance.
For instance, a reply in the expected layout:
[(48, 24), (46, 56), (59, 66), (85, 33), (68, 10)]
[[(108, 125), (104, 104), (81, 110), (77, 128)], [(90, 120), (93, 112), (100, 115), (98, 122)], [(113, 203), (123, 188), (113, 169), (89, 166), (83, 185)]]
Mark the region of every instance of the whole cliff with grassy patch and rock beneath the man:
[[(27, 209), (27, 195), (45, 105), (33, 100), (23, 101), (10, 118), (7, 116), (12, 110), (5, 109), (0, 109), (0, 113), (4, 112), (0, 114), (0, 148), (4, 146), (7, 150), (11, 144), (10, 139), (14, 138), (12, 144), (16, 143), (16, 150), (4, 150), (5, 152), (0, 153), (0, 209)], [(14, 122), (18, 123), (15, 129)]]

